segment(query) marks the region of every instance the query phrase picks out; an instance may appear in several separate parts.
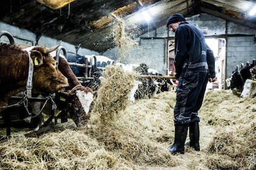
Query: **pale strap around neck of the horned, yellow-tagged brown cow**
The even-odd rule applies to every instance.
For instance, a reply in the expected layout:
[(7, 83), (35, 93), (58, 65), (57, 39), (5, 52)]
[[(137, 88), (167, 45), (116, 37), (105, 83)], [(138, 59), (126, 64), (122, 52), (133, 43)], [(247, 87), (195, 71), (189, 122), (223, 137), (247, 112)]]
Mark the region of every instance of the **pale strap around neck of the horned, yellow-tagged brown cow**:
[(34, 67), (33, 67), (33, 61), (30, 57), (30, 48), (27, 49), (23, 49), (23, 51), (27, 51), (28, 52), (28, 64), (29, 64), (29, 68), (28, 68), (28, 79), (27, 79), (27, 85), (26, 85), (26, 89), (27, 89), (27, 97), (31, 98), (32, 97), (32, 80), (33, 80), (33, 71), (34, 71)]

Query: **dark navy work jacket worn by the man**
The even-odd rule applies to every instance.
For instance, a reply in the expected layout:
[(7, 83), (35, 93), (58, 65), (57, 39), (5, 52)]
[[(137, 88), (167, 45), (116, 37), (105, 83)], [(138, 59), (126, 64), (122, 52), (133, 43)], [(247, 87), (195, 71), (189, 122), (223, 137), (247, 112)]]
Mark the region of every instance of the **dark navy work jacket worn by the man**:
[[(209, 56), (209, 60), (202, 57), (202, 51)], [(181, 22), (175, 31), (175, 59), (176, 78), (182, 73), (184, 63), (209, 62), (208, 69), (215, 77), (215, 60), (213, 52), (207, 46), (202, 31), (188, 22)], [(214, 74), (213, 74), (214, 73)]]

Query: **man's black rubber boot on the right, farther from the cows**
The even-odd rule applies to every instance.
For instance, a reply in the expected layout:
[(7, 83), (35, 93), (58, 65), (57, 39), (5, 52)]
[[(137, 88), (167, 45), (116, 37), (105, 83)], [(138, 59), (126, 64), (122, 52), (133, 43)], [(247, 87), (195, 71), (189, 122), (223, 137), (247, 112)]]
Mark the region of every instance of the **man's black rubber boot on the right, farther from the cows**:
[(186, 145), (189, 145), (189, 147), (194, 148), (196, 151), (200, 151), (200, 145), (199, 145), (199, 123), (198, 122), (191, 122), (189, 124), (189, 139), (190, 142), (186, 142)]

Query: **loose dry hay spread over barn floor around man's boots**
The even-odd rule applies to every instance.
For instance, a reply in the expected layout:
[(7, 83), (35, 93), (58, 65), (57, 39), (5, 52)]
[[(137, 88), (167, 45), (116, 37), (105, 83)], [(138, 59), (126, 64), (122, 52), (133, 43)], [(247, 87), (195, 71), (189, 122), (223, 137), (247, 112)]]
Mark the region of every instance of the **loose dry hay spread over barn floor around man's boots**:
[[(207, 92), (199, 113), (201, 151), (186, 147), (184, 155), (173, 156), (167, 148), (174, 139), (174, 92), (124, 105), (119, 103), (124, 100), (114, 100), (118, 93), (98, 95), (104, 102), (96, 105), (114, 110), (103, 107), (92, 113), (91, 128), (12, 137), (0, 144), (0, 169), (256, 168), (256, 99), (241, 99), (229, 91)], [(105, 97), (116, 104), (106, 105)], [(114, 119), (99, 121), (100, 115)]]

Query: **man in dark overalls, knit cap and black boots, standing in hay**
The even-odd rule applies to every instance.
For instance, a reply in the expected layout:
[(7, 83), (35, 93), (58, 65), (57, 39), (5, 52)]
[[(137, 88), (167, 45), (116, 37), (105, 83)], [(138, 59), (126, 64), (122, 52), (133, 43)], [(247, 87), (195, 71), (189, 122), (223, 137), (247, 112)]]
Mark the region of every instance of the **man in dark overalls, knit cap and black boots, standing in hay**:
[(184, 153), (189, 128), (190, 147), (200, 150), (198, 110), (202, 106), (207, 82), (215, 81), (215, 58), (202, 31), (186, 22), (181, 14), (169, 17), (169, 30), (175, 32), (174, 65), (179, 79), (174, 107), (174, 144), (172, 154)]

